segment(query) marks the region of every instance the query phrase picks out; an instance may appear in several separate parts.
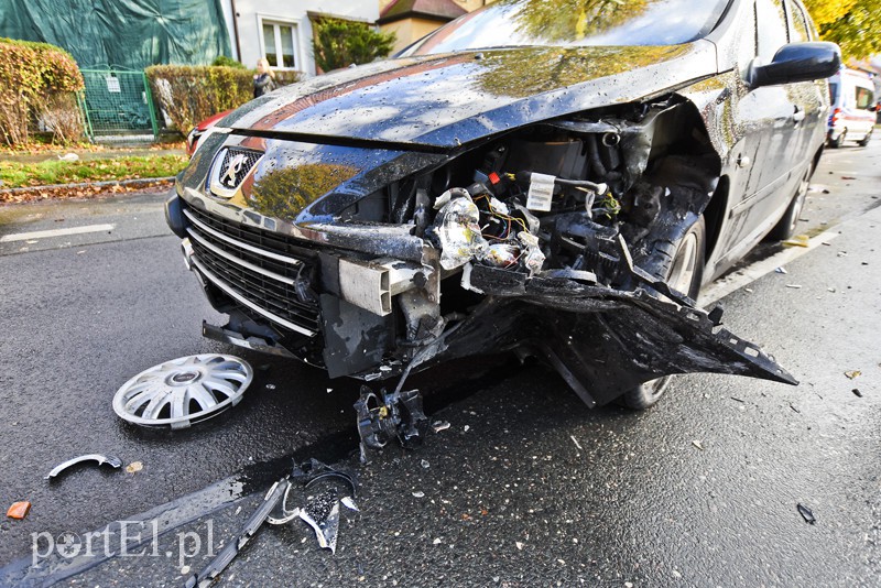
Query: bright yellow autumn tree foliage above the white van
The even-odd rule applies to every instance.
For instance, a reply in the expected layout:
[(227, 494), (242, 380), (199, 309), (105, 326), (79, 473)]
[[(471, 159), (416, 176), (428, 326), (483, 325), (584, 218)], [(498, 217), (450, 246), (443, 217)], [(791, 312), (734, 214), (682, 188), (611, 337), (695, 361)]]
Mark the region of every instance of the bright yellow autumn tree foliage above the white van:
[(881, 0), (804, 0), (824, 41), (838, 43), (845, 57), (881, 53)]

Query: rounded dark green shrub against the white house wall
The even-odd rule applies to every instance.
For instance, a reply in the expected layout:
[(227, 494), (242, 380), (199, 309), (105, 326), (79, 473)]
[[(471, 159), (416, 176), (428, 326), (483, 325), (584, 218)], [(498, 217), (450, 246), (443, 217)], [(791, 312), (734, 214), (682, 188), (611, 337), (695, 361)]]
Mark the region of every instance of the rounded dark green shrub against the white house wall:
[(324, 72), (370, 63), (385, 57), (394, 45), (394, 33), (379, 33), (367, 23), (341, 19), (320, 19), (312, 24), (315, 39), (312, 52)]

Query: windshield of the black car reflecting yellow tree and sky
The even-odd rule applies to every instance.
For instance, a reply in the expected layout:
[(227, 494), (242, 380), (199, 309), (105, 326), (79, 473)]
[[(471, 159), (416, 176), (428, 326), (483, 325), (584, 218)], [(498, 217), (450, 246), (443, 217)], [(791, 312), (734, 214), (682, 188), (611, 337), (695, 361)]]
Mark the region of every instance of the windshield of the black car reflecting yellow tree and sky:
[(728, 0), (497, 0), (400, 56), (531, 45), (676, 45), (709, 33)]

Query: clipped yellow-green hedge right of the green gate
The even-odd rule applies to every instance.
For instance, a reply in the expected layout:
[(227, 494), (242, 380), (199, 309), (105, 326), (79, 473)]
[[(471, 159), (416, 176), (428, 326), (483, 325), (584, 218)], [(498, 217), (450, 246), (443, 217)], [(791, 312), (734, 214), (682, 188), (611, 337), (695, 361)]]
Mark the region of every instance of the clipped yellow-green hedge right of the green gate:
[[(154, 65), (146, 77), (162, 111), (185, 134), (200, 120), (253, 98), (253, 70), (228, 66)], [(296, 81), (298, 74), (293, 79)], [(287, 79), (282, 79), (280, 84)]]

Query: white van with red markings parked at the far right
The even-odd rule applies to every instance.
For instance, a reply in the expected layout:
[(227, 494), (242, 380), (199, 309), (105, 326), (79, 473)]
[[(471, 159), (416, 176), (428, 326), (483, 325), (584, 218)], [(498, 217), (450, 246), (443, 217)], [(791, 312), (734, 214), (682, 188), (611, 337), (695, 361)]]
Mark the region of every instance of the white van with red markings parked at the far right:
[(862, 72), (841, 68), (829, 78), (829, 115), (826, 140), (830, 148), (840, 148), (845, 140), (866, 146), (874, 129), (874, 85)]

